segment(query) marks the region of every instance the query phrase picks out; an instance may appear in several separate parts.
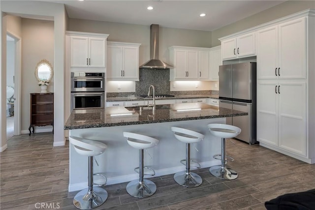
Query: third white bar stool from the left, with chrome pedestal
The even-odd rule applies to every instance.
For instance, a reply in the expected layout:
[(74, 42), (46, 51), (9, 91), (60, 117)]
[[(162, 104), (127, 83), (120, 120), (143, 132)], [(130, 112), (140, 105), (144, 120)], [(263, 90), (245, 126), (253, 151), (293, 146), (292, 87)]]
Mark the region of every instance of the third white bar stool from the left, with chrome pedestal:
[[(204, 139), (205, 136), (201, 133), (180, 127), (171, 127), (171, 130), (174, 132), (176, 139), (186, 143), (186, 160), (181, 160), (182, 164), (184, 164), (183, 161), (186, 162), (186, 164), (184, 164), (186, 165), (186, 171), (177, 172), (174, 175), (174, 180), (178, 184), (185, 187), (199, 186), (202, 183), (202, 178), (196, 173), (190, 172), (190, 167), (200, 168), (198, 162), (190, 160), (190, 144), (200, 142), (201, 140)], [(199, 166), (198, 167), (190, 166), (190, 162), (197, 163)]]

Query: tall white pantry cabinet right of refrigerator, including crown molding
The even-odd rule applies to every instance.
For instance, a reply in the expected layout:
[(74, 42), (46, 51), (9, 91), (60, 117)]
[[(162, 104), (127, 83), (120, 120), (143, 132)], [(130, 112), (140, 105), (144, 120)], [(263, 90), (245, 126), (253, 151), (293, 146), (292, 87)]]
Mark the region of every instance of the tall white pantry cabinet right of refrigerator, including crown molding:
[[(255, 33), (257, 141), (315, 163), (315, 10), (232, 34)], [(221, 42), (232, 38), (222, 37)], [(223, 52), (222, 52), (223, 53)]]

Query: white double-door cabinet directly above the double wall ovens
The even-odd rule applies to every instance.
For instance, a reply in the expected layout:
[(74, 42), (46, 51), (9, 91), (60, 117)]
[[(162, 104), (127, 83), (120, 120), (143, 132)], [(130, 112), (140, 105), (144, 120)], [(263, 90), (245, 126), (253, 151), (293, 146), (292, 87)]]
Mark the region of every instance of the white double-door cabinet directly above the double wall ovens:
[(106, 67), (106, 38), (71, 36), (71, 67)]

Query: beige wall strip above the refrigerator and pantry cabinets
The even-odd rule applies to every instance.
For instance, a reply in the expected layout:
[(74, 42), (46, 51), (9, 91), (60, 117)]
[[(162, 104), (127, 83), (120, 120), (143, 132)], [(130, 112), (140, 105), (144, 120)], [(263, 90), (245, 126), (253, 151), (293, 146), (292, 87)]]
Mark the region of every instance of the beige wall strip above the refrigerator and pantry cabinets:
[(315, 9), (315, 0), (288, 0), (282, 4), (259, 12), (251, 17), (212, 31), (212, 46), (221, 45), (218, 38), (246, 30), (305, 9)]

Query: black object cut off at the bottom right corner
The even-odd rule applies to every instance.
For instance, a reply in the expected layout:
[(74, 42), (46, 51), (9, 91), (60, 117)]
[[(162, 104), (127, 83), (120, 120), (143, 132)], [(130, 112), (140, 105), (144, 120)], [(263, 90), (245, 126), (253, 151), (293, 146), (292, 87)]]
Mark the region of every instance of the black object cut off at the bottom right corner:
[(265, 202), (267, 210), (315, 210), (315, 189), (289, 193)]

